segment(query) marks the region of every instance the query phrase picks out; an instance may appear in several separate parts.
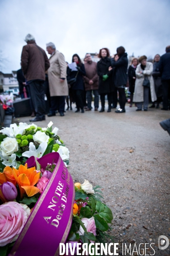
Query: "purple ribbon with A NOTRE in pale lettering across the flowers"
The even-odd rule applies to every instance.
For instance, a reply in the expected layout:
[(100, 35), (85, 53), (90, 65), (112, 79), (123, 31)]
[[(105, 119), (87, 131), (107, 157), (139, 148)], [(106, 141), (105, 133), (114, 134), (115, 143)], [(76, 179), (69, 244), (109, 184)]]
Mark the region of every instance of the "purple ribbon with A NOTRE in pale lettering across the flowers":
[[(33, 163), (31, 158), (27, 163)], [(73, 214), (74, 182), (59, 153), (53, 152), (38, 159), (42, 168), (53, 161), (57, 166), (9, 256), (58, 256), (59, 243), (65, 243), (68, 237)]]

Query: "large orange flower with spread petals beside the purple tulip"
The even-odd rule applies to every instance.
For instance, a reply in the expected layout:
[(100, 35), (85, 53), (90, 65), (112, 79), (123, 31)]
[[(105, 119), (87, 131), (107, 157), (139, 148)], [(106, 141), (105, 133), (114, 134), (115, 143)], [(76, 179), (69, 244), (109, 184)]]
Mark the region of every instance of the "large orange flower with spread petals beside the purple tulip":
[(28, 196), (33, 196), (40, 191), (34, 186), (40, 178), (40, 172), (37, 173), (35, 167), (27, 169), (27, 164), (25, 166), (20, 165), (18, 170), (13, 167), (12, 172), (20, 188), (21, 198), (25, 192)]

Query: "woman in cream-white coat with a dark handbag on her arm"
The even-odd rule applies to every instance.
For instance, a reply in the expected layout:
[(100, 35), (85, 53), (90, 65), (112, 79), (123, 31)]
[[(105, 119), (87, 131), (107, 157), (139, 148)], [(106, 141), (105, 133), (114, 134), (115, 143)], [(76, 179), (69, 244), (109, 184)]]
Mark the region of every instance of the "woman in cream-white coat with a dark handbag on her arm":
[[(153, 64), (147, 62), (147, 57), (145, 55), (139, 58), (139, 65), (136, 68), (136, 81), (135, 81), (135, 91), (133, 96), (133, 102), (136, 102), (137, 109), (136, 111), (142, 110), (142, 105), (144, 111), (147, 111), (149, 104), (149, 89), (151, 94), (152, 102), (156, 101), (156, 93), (154, 87), (154, 81), (152, 77)], [(147, 78), (150, 81), (150, 87), (143, 86), (144, 78)]]

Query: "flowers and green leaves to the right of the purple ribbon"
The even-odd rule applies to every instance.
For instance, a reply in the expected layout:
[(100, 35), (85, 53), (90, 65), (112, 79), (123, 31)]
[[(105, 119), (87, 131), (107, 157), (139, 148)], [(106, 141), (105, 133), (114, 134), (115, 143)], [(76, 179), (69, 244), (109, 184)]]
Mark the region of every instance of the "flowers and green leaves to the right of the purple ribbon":
[[(85, 180), (83, 184), (75, 183), (74, 186), (73, 222), (67, 243), (71, 243), (76, 252), (79, 242), (82, 244), (105, 243), (107, 239), (113, 239), (106, 233), (107, 230), (111, 229), (108, 224), (111, 223), (113, 214), (111, 209), (101, 201), (100, 186), (93, 189), (88, 180)], [(76, 254), (69, 252), (69, 255)]]

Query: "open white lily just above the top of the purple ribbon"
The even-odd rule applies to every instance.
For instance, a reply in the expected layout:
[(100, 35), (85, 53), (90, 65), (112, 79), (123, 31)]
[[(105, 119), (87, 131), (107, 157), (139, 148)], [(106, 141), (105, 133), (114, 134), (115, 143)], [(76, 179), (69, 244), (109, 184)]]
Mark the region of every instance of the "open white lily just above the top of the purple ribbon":
[(29, 151), (26, 151), (22, 154), (23, 157), (42, 157), (42, 155), (44, 154), (46, 148), (47, 148), (47, 143), (46, 142), (42, 142), (39, 147), (36, 149), (35, 145), (30, 142), (29, 143)]

